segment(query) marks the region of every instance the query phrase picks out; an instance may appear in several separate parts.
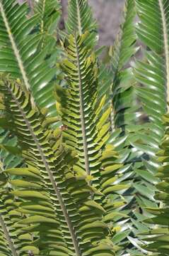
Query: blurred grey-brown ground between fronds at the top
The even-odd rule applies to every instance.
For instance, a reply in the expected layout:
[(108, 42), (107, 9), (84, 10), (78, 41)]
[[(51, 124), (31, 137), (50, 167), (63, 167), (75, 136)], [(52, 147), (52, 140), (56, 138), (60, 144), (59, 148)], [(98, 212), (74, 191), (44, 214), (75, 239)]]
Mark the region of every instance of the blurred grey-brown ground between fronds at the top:
[[(20, 3), (25, 0), (18, 0)], [(31, 3), (31, 0), (27, 0)], [(47, 0), (50, 1), (50, 0)], [(61, 0), (66, 15), (67, 0)], [(88, 0), (99, 24), (100, 46), (111, 46), (120, 28), (124, 0)]]

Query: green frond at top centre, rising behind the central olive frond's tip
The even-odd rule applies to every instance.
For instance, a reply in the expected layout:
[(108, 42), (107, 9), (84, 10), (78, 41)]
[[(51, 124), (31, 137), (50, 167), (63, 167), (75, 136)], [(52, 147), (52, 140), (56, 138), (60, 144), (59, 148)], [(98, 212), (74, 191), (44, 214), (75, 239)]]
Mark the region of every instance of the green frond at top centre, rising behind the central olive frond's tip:
[(86, 44), (93, 46), (98, 40), (97, 24), (93, 19), (91, 7), (88, 0), (69, 0), (68, 18), (66, 21), (66, 31), (69, 34), (78, 33), (80, 36), (88, 31)]

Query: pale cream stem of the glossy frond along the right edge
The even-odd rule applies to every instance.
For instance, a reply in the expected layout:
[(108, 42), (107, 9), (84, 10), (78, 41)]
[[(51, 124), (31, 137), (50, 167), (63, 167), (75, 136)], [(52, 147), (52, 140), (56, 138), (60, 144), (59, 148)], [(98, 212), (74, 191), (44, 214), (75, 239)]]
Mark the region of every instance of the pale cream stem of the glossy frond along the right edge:
[(166, 63), (166, 75), (167, 75), (167, 90), (168, 90), (168, 102), (169, 102), (169, 42), (168, 42), (168, 27), (167, 21), (165, 17), (165, 10), (163, 7), (162, 0), (158, 0), (160, 9), (161, 9), (161, 17), (163, 21), (163, 37), (164, 37), (164, 50), (165, 50), (165, 63)]

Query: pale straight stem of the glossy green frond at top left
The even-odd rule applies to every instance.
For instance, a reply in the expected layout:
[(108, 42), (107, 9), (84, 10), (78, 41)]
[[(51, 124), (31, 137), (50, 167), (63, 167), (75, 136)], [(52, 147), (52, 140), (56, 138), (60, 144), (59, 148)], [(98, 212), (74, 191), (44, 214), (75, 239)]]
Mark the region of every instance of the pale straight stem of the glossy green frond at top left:
[(3, 6), (3, 4), (1, 4), (1, 2), (0, 2), (0, 11), (1, 11), (1, 16), (3, 18), (4, 24), (6, 26), (6, 31), (8, 33), (8, 38), (11, 41), (11, 46), (13, 48), (13, 52), (14, 52), (14, 54), (16, 56), (16, 60), (18, 62), (18, 66), (19, 66), (19, 68), (21, 70), (21, 74), (23, 76), (23, 81), (24, 81), (25, 87), (27, 88), (27, 90), (29, 90), (30, 89), (30, 83), (28, 81), (28, 77), (26, 75), (25, 68), (23, 66), (23, 61), (21, 59), (21, 56), (20, 56), (18, 47), (16, 45), (16, 42), (15, 42), (15, 40), (13, 38), (13, 34), (11, 33), (11, 28), (10, 28), (9, 23), (8, 23), (8, 18), (6, 17), (6, 14), (5, 14), (5, 11), (4, 11), (4, 6)]

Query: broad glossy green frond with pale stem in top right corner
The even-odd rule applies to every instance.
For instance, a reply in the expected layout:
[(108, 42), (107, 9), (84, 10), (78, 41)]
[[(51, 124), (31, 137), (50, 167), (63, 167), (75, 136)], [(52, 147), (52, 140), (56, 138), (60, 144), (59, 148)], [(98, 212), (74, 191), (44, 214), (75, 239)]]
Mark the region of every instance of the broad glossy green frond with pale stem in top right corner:
[(136, 64), (136, 79), (144, 85), (137, 91), (148, 118), (154, 124), (154, 134), (163, 137), (161, 117), (167, 110), (169, 87), (168, 1), (137, 0), (136, 6), (140, 18), (136, 32), (149, 48), (147, 61)]

